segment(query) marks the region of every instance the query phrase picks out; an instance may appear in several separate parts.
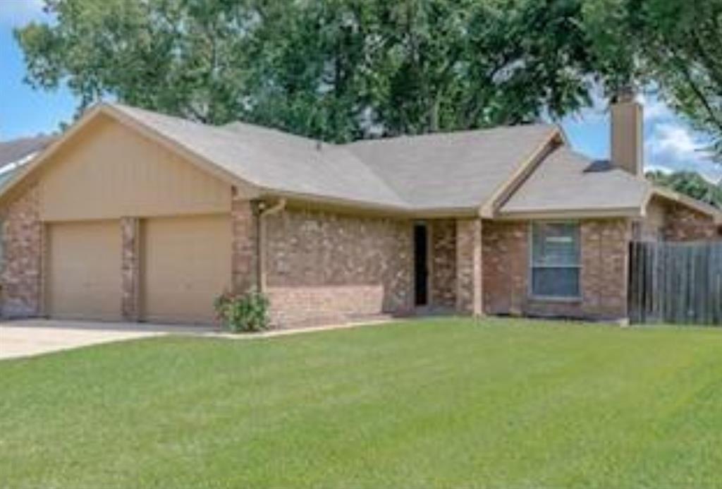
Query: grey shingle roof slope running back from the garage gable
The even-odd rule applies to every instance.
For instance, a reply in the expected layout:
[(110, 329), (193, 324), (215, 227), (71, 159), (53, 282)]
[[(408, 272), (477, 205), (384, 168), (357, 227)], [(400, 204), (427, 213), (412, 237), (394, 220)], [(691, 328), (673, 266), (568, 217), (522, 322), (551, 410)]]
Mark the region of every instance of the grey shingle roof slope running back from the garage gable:
[(250, 124), (206, 126), (124, 105), (127, 116), (228, 173), (268, 191), (406, 207), (388, 185), (343, 147)]

